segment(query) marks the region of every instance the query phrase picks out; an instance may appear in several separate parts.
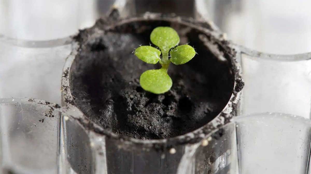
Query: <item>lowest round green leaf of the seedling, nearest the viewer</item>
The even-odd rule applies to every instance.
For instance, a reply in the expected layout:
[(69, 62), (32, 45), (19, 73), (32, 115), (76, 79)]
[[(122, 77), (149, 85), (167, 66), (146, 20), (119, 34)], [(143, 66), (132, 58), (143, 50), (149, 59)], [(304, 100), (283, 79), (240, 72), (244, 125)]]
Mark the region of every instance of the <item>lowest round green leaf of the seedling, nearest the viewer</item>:
[(172, 79), (165, 69), (152, 69), (142, 73), (139, 79), (142, 89), (154, 94), (163, 94), (172, 87)]

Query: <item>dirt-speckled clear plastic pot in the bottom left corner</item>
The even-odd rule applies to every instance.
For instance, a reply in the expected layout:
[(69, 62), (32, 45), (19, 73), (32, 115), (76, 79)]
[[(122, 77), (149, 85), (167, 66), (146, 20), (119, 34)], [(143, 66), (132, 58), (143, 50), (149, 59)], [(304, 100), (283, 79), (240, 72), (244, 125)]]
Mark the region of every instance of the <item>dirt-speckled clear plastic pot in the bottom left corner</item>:
[(77, 111), (34, 98), (0, 99), (0, 172), (95, 173), (89, 135), (70, 116), (78, 118)]

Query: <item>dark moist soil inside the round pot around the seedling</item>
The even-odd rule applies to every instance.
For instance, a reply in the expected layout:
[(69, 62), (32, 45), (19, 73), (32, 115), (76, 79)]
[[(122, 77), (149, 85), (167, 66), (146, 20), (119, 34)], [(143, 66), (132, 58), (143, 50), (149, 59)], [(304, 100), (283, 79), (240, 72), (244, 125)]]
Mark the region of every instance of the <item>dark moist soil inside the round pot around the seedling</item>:
[[(150, 44), (150, 33), (157, 26), (173, 27), (180, 44), (189, 43), (198, 53), (184, 65), (170, 65), (173, 86), (160, 95), (139, 85), (142, 72), (160, 65), (144, 63), (132, 54), (139, 45)], [(234, 85), (231, 62), (207, 49), (198, 37), (204, 33), (165, 21), (103, 28), (97, 22), (75, 37), (81, 48), (69, 77), (76, 106), (95, 123), (133, 138), (175, 137), (207, 124), (228, 103)]]

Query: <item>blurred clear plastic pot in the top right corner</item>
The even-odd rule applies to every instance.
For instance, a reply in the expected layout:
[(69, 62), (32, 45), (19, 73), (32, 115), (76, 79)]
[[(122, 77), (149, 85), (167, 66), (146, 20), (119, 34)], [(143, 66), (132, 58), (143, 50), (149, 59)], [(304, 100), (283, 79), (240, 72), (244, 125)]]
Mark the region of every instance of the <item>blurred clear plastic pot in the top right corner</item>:
[[(202, 15), (230, 40), (272, 54), (311, 51), (311, 1), (200, 0)], [(206, 8), (205, 10), (203, 8)]]

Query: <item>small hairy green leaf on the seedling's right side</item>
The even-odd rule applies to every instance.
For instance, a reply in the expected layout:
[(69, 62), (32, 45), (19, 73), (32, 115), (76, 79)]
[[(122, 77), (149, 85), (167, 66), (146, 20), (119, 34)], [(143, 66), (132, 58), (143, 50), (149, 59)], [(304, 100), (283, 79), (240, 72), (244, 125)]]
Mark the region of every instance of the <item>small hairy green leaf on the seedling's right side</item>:
[(190, 45), (180, 45), (169, 51), (170, 61), (175, 65), (189, 62), (196, 54), (194, 48)]

